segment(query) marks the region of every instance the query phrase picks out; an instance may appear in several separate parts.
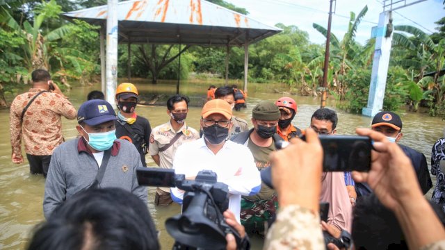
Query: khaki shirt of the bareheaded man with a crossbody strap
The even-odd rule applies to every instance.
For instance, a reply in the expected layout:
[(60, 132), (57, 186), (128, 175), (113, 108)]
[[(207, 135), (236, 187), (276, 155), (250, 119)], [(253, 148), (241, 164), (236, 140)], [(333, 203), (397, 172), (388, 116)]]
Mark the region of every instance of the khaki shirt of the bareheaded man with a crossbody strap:
[[(175, 137), (177, 133), (182, 131), (183, 135), (168, 149), (160, 152), (159, 149), (170, 143), (170, 140)], [(171, 169), (173, 166), (173, 158), (175, 157), (176, 149), (184, 144), (185, 142), (192, 142), (200, 138), (200, 133), (198, 133), (195, 128), (191, 128), (184, 125), (176, 132), (172, 128), (170, 121), (156, 126), (153, 128), (152, 134), (150, 135), (150, 143), (148, 147), (148, 153), (150, 156), (159, 155), (159, 167)], [(161, 188), (165, 192), (170, 192), (170, 188)]]

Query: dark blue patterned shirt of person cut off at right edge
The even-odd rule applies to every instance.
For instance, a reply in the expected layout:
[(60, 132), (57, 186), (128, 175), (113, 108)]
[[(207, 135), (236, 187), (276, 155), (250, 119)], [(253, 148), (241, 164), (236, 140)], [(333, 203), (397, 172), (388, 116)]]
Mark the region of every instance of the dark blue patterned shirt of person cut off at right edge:
[(445, 138), (440, 138), (431, 150), (431, 174), (437, 177), (431, 201), (442, 206), (445, 211), (445, 173), (440, 168), (440, 161), (445, 160)]

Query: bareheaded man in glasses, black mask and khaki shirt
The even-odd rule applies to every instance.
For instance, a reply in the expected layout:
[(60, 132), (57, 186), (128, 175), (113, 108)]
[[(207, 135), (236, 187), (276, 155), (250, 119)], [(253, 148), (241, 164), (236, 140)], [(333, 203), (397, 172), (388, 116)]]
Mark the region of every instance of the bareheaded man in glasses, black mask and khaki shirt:
[[(200, 138), (195, 128), (186, 125), (188, 97), (176, 94), (167, 101), (167, 115), (170, 121), (153, 128), (149, 140), (149, 154), (159, 167), (171, 169), (173, 156), (181, 144)], [(170, 188), (156, 188), (154, 204), (167, 206), (172, 203)]]

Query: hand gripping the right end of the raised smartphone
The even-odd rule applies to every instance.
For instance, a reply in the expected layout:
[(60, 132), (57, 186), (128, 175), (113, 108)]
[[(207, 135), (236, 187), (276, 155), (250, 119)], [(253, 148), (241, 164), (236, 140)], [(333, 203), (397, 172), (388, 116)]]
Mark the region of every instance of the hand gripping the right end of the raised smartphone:
[(366, 182), (374, 190), (383, 205), (395, 210), (403, 203), (423, 199), (411, 161), (396, 143), (385, 135), (368, 128), (357, 128), (358, 135), (374, 140), (371, 152), (371, 170), (368, 173), (353, 172), (357, 182)]

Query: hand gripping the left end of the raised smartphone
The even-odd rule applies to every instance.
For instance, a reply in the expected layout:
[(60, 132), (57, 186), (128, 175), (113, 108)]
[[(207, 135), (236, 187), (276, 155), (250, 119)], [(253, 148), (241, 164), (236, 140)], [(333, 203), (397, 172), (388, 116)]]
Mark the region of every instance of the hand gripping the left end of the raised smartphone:
[(318, 213), (323, 149), (312, 128), (305, 133), (306, 142), (293, 138), (288, 147), (270, 154), (272, 183), (280, 206), (298, 204)]

